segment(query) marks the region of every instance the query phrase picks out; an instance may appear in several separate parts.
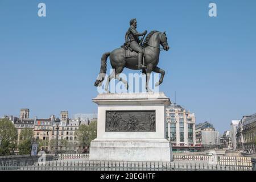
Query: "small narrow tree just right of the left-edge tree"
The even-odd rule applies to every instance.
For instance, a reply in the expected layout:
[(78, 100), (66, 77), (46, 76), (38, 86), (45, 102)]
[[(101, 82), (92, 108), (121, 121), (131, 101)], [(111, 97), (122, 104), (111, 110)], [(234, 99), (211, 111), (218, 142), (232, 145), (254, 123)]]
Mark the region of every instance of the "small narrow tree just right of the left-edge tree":
[(19, 154), (20, 155), (25, 155), (25, 154), (30, 154), (30, 148), (31, 148), (31, 143), (34, 137), (34, 131), (32, 129), (23, 129), (20, 132), (19, 139)]

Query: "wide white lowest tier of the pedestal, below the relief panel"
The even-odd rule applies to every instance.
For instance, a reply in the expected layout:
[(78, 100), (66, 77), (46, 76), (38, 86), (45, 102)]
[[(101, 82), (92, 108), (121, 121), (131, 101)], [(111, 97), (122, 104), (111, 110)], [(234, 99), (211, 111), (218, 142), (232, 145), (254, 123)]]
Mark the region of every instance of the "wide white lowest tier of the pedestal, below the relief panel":
[(172, 152), (166, 139), (95, 139), (90, 160), (171, 162)]

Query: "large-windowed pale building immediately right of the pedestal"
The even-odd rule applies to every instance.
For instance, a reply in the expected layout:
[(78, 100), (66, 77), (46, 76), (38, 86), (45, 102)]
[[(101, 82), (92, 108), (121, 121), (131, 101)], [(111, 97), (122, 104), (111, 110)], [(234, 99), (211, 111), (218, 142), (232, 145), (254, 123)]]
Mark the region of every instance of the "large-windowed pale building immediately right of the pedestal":
[(174, 152), (197, 150), (195, 147), (196, 118), (194, 113), (172, 103), (166, 108), (166, 122), (166, 138), (172, 143)]

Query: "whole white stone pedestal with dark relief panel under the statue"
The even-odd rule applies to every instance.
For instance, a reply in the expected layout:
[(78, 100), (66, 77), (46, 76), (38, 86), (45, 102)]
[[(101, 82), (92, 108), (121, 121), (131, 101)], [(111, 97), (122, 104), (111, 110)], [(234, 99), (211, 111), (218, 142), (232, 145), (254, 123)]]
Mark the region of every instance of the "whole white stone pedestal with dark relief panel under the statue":
[(90, 145), (90, 160), (170, 162), (166, 135), (164, 93), (99, 94), (97, 138)]

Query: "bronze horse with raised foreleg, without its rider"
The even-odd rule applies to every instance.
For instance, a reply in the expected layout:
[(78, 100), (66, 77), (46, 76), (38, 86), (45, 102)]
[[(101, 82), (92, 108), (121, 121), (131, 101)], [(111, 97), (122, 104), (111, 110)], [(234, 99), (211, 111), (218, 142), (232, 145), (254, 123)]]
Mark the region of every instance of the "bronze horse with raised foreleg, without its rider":
[[(146, 74), (146, 90), (147, 92), (151, 92), (148, 88), (148, 81), (150, 80), (151, 72), (160, 73), (161, 77), (158, 82), (156, 82), (155, 86), (162, 84), (164, 78), (164, 70), (157, 67), (159, 62), (159, 54), (160, 45), (163, 47), (165, 51), (168, 51), (170, 48), (167, 43), (167, 36), (165, 32), (159, 31), (151, 31), (143, 43), (144, 47), (144, 65), (146, 66), (146, 70), (143, 69), (142, 73)], [(105, 90), (109, 92), (109, 82), (112, 78), (115, 78), (119, 81), (122, 81), (125, 84), (126, 89), (128, 89), (128, 83), (126, 80), (123, 80), (119, 77), (119, 74), (122, 73), (123, 68), (129, 68), (133, 70), (138, 70), (137, 67), (137, 57), (125, 57), (125, 49), (117, 48), (114, 49), (112, 52), (106, 52), (101, 57), (101, 70), (100, 75), (98, 76), (97, 80), (94, 83), (94, 86), (101, 86), (102, 82), (104, 81), (104, 77), (106, 74), (106, 60), (110, 56), (110, 64), (114, 69), (108, 80), (106, 82)]]

